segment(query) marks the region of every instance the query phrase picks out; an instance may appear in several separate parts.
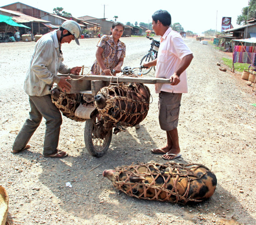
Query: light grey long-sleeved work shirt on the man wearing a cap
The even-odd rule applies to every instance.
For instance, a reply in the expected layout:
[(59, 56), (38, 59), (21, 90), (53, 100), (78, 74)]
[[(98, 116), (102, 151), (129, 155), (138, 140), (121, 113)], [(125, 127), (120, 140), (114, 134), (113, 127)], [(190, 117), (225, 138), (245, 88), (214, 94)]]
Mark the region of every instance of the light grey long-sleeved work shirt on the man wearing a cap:
[(56, 30), (43, 35), (35, 45), (29, 69), (24, 82), (24, 90), (30, 96), (43, 96), (50, 93), (54, 83), (58, 84), (57, 73), (70, 73), (63, 64)]

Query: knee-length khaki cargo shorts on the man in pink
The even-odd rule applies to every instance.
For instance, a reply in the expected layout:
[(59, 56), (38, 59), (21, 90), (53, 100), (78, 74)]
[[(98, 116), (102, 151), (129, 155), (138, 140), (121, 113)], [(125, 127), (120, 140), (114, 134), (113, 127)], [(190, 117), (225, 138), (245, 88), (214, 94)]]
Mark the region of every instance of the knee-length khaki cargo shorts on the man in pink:
[(163, 92), (158, 98), (158, 118), (162, 130), (171, 131), (178, 126), (181, 93)]

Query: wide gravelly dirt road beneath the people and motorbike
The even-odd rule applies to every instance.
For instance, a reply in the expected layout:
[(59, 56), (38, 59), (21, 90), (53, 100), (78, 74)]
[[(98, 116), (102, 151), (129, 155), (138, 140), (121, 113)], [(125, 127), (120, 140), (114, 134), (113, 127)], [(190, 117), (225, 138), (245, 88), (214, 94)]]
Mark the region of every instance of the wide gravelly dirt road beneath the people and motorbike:
[[(82, 39), (81, 46), (63, 45), (65, 64), (91, 66), (97, 41)], [(122, 41), (127, 49), (124, 65), (139, 65), (150, 41)], [(113, 135), (101, 158), (85, 149), (85, 124), (65, 117), (59, 148), (67, 150), (69, 157), (42, 157), (45, 120), (29, 142), (32, 148), (11, 154), (30, 109), (22, 87), (35, 43), (1, 43), (0, 184), (10, 195), (9, 212), (16, 224), (256, 224), (256, 108), (249, 105), (256, 97), (241, 75), (219, 71), (216, 62), (222, 53), (194, 39), (185, 41), (194, 59), (187, 70), (189, 93), (182, 96), (180, 109), (182, 158), (175, 162), (203, 164), (218, 179), (210, 199), (189, 206), (135, 199), (119, 193), (102, 177), (104, 169), (118, 165), (165, 163), (150, 152), (165, 144), (152, 85), (153, 102), (141, 129), (128, 128)], [(65, 182), (71, 182), (72, 188)]]

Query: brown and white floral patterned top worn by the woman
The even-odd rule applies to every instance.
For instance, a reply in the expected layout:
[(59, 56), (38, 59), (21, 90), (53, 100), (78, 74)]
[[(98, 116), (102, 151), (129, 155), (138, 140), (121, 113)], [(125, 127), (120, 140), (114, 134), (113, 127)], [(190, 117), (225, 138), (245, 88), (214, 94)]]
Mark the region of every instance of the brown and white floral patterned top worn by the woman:
[[(117, 45), (115, 45), (112, 35), (103, 35), (98, 42), (97, 47), (104, 49), (102, 52), (102, 60), (106, 69), (114, 69), (118, 64), (119, 59), (125, 57), (126, 45), (120, 40), (118, 40)], [(91, 66), (91, 73), (94, 75), (105, 75), (98, 64), (97, 59)]]

